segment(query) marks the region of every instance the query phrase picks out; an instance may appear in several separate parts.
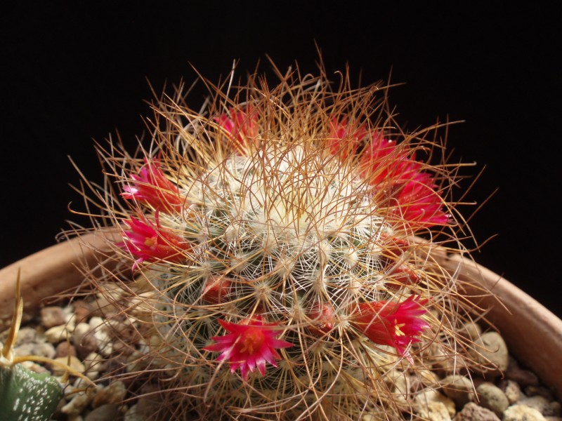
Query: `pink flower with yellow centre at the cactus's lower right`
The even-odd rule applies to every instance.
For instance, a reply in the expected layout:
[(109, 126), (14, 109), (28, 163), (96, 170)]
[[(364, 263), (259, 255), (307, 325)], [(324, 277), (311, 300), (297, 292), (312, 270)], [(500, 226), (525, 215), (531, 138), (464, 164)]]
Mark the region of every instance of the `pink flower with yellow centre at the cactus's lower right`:
[(362, 302), (353, 312), (351, 323), (374, 343), (390, 345), (396, 348), (398, 354), (412, 361), (405, 348), (410, 343), (419, 342), (416, 337), (429, 328), (429, 324), (420, 317), (427, 312), (423, 307), (427, 301), (410, 295), (403, 302)]

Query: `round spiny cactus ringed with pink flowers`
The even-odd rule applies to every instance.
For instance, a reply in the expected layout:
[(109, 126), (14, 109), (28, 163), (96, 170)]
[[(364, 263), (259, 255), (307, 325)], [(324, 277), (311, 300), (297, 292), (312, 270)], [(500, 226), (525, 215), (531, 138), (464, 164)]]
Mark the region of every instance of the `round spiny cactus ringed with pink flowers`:
[(470, 364), (455, 333), (470, 309), (431, 255), (461, 248), (459, 166), (429, 163), (438, 126), (404, 133), (386, 87), (324, 76), (213, 93), (204, 112), (180, 89), (157, 102), (139, 156), (100, 147), (100, 220), (130, 270), (93, 281), (138, 321), (129, 371), (168, 403), (152, 416), (411, 413), (400, 378)]

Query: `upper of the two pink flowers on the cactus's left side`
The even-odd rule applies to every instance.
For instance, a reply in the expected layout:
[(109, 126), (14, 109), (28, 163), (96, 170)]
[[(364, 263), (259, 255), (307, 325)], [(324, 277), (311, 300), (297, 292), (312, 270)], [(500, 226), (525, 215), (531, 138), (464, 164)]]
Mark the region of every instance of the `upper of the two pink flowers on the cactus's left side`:
[(122, 196), (125, 199), (148, 203), (155, 210), (180, 211), (183, 198), (178, 187), (166, 178), (159, 161), (149, 162), (145, 159), (145, 163), (139, 175), (131, 175), (135, 182), (123, 187)]

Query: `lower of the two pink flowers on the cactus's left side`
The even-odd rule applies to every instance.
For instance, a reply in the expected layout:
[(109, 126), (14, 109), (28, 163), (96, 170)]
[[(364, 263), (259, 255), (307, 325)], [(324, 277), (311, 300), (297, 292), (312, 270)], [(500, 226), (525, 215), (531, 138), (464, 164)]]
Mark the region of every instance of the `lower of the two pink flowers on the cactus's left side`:
[(189, 243), (181, 236), (158, 224), (152, 225), (148, 221), (133, 218), (125, 221), (130, 231), (122, 233), (124, 241), (119, 246), (129, 250), (129, 253), (137, 257), (133, 270), (145, 260), (155, 262), (157, 260), (168, 260), (178, 262), (183, 260), (183, 251), (190, 250)]

